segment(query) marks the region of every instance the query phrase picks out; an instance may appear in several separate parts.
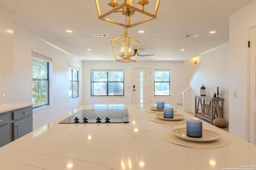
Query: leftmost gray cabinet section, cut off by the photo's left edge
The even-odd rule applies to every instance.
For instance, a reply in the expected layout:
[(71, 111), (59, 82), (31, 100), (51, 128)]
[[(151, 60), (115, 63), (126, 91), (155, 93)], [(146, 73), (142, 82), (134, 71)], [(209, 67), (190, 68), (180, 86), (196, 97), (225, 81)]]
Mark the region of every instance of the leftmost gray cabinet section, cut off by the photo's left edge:
[(10, 112), (0, 114), (0, 147), (12, 141), (10, 127)]

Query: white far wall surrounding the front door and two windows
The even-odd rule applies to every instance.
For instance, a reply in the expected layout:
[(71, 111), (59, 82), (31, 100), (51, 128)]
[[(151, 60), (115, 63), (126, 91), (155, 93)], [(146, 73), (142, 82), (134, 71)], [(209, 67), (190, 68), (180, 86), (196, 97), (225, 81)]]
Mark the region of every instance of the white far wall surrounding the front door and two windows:
[[(188, 66), (190, 63), (191, 66)], [(90, 69), (124, 69), (124, 96), (90, 96)], [(118, 61), (84, 61), (83, 62), (83, 84), (86, 91), (83, 93), (83, 104), (132, 104), (132, 69), (133, 68), (149, 68), (151, 70), (151, 104), (157, 101), (164, 101), (166, 104), (175, 106), (176, 102), (182, 98), (182, 91), (189, 87), (189, 81), (196, 69), (194, 61), (186, 62), (142, 62), (121, 63)], [(154, 96), (154, 69), (170, 69), (171, 70), (171, 97), (170, 96)], [(184, 69), (188, 71), (190, 76), (184, 75)], [(114, 102), (113, 102), (114, 100)]]

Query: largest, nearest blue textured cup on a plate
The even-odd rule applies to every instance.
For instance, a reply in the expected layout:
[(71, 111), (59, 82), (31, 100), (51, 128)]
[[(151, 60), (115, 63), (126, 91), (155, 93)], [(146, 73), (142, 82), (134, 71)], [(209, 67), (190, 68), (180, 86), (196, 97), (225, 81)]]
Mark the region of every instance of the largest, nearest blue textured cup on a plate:
[(186, 121), (186, 134), (188, 137), (200, 138), (203, 135), (203, 127), (201, 120), (188, 119)]

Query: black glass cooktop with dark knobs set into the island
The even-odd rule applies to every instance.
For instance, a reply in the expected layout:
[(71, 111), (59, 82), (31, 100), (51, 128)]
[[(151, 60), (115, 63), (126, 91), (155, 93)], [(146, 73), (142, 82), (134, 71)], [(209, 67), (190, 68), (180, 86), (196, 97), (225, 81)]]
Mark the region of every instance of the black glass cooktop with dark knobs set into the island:
[(129, 123), (128, 109), (80, 110), (59, 123)]

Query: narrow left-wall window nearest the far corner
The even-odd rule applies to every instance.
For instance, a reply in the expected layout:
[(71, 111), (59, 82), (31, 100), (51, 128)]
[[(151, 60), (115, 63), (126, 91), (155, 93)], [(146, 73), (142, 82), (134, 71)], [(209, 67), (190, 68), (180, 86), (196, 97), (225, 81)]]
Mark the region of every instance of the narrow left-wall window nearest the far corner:
[(78, 97), (78, 73), (80, 68), (75, 68), (74, 66), (69, 65), (68, 74), (68, 98), (77, 98)]

